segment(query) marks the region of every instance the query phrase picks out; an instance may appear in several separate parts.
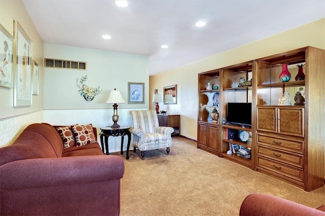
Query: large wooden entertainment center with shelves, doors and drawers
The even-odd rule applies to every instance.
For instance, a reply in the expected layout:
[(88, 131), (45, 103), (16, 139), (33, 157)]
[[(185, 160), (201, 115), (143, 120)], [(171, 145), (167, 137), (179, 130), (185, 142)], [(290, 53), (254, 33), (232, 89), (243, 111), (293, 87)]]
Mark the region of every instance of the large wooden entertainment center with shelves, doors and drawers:
[[(279, 79), (283, 63), (289, 65), (289, 82)], [(295, 80), (297, 64), (305, 64), (305, 80)], [(240, 85), (241, 78), (252, 80), (251, 85)], [(305, 191), (324, 186), (325, 50), (304, 47), (254, 59), (200, 73), (198, 81), (199, 149)], [(305, 104), (294, 105), (300, 90)], [(291, 94), (292, 105), (278, 105), (285, 91)], [(251, 127), (226, 122), (228, 103), (239, 102), (252, 104)], [(213, 109), (219, 113), (217, 123), (212, 123)], [(247, 141), (238, 137), (242, 131), (248, 132)], [(249, 149), (250, 158), (234, 154), (233, 146)]]

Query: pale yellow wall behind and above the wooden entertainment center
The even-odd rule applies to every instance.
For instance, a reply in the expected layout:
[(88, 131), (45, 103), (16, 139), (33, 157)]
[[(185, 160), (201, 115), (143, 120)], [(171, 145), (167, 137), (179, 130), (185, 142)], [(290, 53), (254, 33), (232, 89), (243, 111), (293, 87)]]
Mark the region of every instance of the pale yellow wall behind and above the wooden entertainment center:
[[(173, 68), (165, 73), (150, 76), (150, 98), (152, 98), (154, 89), (158, 89), (158, 93), (162, 93), (164, 86), (177, 84), (177, 104), (164, 105), (160, 103), (159, 110), (180, 114), (181, 135), (197, 140), (199, 73), (306, 46), (325, 49), (324, 32), (325, 18)], [(320, 104), (324, 104), (324, 101), (320, 101)], [(153, 103), (150, 103), (150, 109), (154, 109)]]

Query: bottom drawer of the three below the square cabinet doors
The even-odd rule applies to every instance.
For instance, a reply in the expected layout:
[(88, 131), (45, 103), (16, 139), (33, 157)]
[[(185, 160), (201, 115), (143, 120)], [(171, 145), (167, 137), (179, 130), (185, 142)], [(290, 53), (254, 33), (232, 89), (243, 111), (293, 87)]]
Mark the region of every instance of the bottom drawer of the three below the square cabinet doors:
[[(287, 176), (289, 178), (296, 179), (300, 182), (303, 182), (304, 171), (303, 169), (293, 168), (286, 166), (268, 159), (264, 159), (257, 156), (257, 167), (262, 167), (273, 172), (279, 173), (281, 175)], [(258, 168), (257, 168), (258, 169)]]

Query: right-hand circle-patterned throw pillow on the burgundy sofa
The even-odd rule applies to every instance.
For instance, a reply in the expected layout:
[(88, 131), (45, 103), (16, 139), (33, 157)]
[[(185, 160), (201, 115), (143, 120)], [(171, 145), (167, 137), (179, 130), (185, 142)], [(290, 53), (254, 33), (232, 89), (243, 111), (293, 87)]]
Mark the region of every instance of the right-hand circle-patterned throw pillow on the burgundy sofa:
[(76, 140), (76, 146), (84, 146), (92, 142), (97, 142), (92, 131), (92, 124), (72, 125), (71, 128)]

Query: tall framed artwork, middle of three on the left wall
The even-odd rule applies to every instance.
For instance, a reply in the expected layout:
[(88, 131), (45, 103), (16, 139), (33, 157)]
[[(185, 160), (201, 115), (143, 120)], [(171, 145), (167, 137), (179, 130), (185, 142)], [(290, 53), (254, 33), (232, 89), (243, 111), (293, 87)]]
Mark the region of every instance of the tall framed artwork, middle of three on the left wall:
[(14, 106), (31, 105), (32, 42), (15, 20), (17, 64), (14, 83)]

